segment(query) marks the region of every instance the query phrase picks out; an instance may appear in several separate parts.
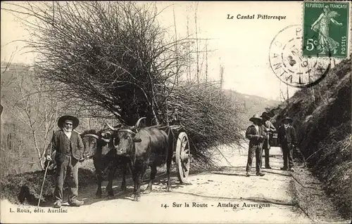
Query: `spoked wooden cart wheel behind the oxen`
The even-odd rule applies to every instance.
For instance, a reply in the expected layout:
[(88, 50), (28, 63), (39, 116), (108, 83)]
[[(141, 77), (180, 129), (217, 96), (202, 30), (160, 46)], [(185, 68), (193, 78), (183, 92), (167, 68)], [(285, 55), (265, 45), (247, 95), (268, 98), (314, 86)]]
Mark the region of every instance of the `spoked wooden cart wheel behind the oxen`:
[(178, 179), (184, 183), (188, 178), (189, 160), (191, 159), (188, 137), (184, 132), (181, 132), (177, 138), (175, 157)]

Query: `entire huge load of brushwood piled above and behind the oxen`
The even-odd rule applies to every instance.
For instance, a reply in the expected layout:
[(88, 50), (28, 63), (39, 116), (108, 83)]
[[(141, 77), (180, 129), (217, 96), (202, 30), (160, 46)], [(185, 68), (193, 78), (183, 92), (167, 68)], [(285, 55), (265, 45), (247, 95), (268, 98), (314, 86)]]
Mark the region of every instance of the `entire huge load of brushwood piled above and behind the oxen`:
[(27, 46), (39, 53), (34, 73), (58, 100), (90, 110), (92, 117), (108, 112), (130, 126), (141, 117), (146, 126), (178, 124), (203, 166), (213, 164), (211, 147), (241, 138), (241, 109), (219, 84), (184, 79), (194, 39), (169, 37), (153, 4), (28, 1), (6, 6), (35, 19), (23, 20), (31, 32)]

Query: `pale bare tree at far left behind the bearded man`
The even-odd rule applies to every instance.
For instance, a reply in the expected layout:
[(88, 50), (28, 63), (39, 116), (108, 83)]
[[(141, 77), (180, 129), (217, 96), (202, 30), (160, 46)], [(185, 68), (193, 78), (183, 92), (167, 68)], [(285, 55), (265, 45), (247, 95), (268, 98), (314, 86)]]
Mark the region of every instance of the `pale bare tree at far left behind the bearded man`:
[(58, 101), (50, 92), (44, 91), (41, 79), (34, 78), (29, 67), (19, 69), (13, 66), (11, 72), (12, 83), (1, 86), (6, 92), (2, 100), (6, 110), (14, 115), (13, 119), (22, 124), (21, 131), (29, 134), (38, 162), (44, 168), (42, 159), (58, 117)]

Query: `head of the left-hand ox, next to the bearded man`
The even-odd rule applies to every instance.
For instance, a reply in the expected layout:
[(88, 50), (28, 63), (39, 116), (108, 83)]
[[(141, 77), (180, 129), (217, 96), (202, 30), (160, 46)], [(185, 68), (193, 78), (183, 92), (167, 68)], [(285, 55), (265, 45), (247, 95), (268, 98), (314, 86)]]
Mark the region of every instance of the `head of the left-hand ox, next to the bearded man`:
[(110, 142), (111, 133), (89, 130), (84, 131), (81, 138), (84, 145), (83, 158), (91, 159), (95, 154), (101, 152), (103, 146)]

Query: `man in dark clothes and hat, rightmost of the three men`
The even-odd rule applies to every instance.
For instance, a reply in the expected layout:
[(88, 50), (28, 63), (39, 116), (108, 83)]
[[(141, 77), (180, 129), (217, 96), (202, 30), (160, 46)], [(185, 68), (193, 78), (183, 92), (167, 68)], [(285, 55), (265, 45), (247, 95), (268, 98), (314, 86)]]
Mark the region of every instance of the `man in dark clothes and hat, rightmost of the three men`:
[(283, 125), (277, 131), (277, 139), (282, 147), (284, 157), (284, 167), (280, 168), (283, 171), (294, 171), (293, 149), (297, 145), (296, 130), (291, 126), (292, 119), (286, 117), (282, 120)]

